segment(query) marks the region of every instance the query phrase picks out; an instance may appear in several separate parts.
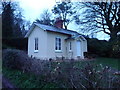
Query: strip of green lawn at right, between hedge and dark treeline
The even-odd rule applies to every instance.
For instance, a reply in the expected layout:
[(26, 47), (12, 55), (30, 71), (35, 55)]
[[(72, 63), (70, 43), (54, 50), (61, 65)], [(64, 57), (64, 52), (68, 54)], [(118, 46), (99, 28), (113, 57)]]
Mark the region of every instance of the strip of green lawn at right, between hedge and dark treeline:
[(115, 58), (96, 58), (95, 64), (102, 64), (103, 66), (110, 66), (114, 69), (120, 70), (120, 59)]

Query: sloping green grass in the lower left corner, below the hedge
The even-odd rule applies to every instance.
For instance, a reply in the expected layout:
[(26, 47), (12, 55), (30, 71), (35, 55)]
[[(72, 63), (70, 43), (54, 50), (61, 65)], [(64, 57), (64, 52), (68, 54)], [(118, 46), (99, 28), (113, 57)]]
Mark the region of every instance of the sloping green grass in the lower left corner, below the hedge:
[(53, 83), (43, 82), (43, 78), (32, 74), (23, 73), (19, 70), (13, 70), (4, 67), (3, 75), (18, 88), (57, 88), (57, 85)]

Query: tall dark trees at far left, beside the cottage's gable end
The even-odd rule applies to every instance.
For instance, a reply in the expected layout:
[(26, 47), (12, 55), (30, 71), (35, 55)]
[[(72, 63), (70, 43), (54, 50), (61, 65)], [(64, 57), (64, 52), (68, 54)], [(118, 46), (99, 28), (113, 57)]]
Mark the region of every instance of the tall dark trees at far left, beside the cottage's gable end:
[(25, 21), (17, 2), (2, 2), (2, 49), (16, 48), (27, 51)]

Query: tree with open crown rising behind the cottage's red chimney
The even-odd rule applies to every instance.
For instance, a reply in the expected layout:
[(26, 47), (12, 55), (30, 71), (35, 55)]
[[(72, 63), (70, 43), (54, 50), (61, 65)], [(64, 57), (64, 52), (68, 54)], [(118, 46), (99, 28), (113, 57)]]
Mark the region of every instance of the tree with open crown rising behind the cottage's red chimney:
[(76, 13), (71, 2), (62, 2), (55, 5), (52, 12), (62, 17), (65, 29), (67, 29), (68, 24), (73, 21), (72, 16)]

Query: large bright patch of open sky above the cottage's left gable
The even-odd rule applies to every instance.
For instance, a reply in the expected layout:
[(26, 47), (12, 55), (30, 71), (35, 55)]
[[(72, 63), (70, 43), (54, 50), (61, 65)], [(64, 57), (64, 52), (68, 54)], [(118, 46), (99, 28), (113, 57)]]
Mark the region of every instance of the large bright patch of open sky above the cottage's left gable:
[(55, 5), (55, 0), (19, 0), (19, 3), (24, 10), (25, 18), (34, 21), (44, 9), (51, 9)]

